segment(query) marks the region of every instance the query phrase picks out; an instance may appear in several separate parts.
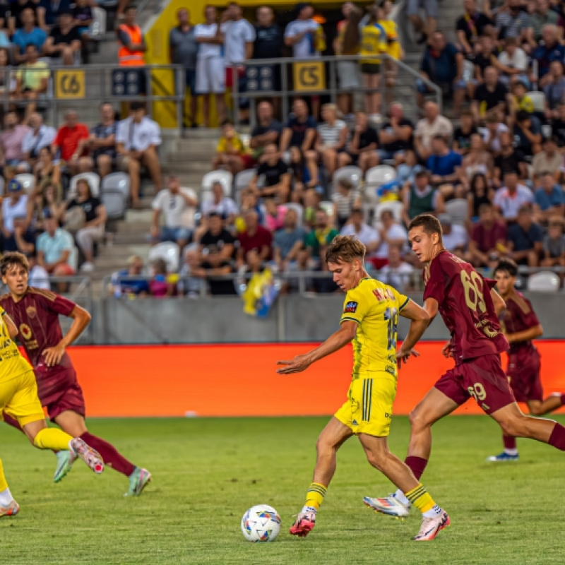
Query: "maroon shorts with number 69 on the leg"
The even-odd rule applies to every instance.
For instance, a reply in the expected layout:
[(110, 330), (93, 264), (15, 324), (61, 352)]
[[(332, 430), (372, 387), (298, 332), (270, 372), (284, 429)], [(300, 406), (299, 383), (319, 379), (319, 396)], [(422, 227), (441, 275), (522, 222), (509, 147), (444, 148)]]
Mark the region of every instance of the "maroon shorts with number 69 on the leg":
[(500, 355), (494, 353), (456, 365), (441, 376), (434, 386), (458, 405), (475, 398), (487, 414), (516, 402), (502, 370)]

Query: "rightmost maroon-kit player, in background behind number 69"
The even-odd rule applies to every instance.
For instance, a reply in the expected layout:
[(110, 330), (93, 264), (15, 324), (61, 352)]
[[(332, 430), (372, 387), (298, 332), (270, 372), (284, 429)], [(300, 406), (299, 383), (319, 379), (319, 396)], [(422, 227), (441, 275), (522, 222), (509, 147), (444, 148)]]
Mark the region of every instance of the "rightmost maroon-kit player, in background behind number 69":
[[(543, 328), (535, 315), (531, 302), (518, 292), (516, 285), (518, 266), (511, 259), (502, 259), (494, 269), (496, 288), (506, 302), (499, 314), (502, 331), (510, 343), (508, 376), (516, 400), (528, 405), (528, 411), (541, 416), (565, 404), (564, 393), (553, 393), (543, 398), (540, 380), (541, 357), (532, 340), (541, 338)], [(517, 461), (518, 448), (514, 436), (502, 436), (504, 451), (487, 461)]]

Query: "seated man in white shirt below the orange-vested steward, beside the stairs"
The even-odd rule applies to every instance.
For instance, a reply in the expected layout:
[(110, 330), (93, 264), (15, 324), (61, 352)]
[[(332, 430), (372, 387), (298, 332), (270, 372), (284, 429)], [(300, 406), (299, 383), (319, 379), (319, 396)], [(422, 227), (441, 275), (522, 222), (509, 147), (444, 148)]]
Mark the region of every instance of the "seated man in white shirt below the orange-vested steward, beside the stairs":
[(145, 116), (144, 102), (132, 102), (130, 117), (119, 122), (116, 135), (118, 167), (129, 174), (133, 208), (142, 208), (139, 200), (139, 169), (148, 168), (155, 191), (162, 189), (161, 165), (157, 147), (161, 145), (161, 129), (156, 121)]

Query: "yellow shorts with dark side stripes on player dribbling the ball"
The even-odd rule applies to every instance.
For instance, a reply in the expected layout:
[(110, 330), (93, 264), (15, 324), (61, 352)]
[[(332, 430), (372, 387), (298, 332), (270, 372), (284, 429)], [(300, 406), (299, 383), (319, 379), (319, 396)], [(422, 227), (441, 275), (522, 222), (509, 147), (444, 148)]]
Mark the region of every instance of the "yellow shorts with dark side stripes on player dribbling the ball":
[(347, 402), (335, 417), (354, 434), (386, 437), (391, 431), (396, 379), (388, 373), (374, 373), (371, 379), (351, 381)]

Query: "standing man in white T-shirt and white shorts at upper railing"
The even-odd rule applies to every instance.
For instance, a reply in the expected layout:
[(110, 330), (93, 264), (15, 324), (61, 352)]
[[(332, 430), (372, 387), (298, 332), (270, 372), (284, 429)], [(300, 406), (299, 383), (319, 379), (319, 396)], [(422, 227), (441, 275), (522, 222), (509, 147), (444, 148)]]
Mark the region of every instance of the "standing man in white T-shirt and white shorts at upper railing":
[(221, 124), (225, 120), (225, 71), (222, 45), (224, 40), (218, 34), (218, 12), (214, 6), (206, 6), (204, 10), (206, 23), (199, 23), (194, 28), (194, 37), (198, 43), (196, 56), (196, 93), (203, 95), (202, 113), (204, 127), (210, 125), (209, 95), (215, 96), (216, 112)]

